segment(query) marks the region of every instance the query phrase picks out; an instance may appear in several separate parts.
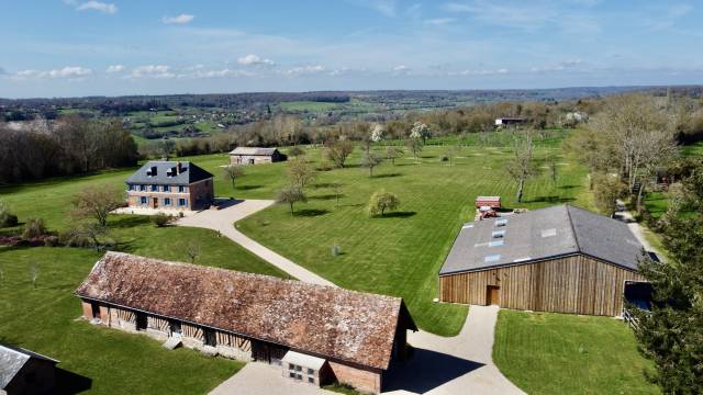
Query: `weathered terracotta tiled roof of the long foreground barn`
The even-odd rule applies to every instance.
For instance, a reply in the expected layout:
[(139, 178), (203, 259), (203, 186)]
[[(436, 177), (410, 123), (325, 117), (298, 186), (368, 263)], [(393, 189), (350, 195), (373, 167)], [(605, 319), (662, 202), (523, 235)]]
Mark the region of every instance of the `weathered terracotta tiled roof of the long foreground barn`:
[(398, 297), (121, 252), (76, 294), (378, 369), (399, 321), (416, 329)]

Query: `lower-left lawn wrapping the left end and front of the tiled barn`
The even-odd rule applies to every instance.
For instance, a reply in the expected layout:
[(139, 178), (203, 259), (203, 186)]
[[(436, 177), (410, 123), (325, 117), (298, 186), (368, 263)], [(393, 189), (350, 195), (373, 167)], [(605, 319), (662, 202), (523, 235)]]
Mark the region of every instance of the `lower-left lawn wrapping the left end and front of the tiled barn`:
[(62, 369), (89, 377), (96, 394), (205, 393), (244, 365), (76, 320), (72, 292), (98, 258), (85, 249), (0, 248), (0, 339), (60, 360)]

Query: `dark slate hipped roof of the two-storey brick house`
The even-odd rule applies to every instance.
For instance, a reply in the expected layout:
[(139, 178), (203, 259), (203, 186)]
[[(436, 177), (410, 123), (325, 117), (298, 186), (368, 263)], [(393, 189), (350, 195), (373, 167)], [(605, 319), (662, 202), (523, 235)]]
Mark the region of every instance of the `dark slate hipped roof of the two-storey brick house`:
[[(209, 171), (189, 161), (180, 161), (180, 173), (168, 176), (168, 172), (178, 167), (178, 161), (165, 160), (148, 161), (142, 166), (140, 170), (135, 171), (134, 174), (130, 176), (126, 182), (161, 185), (188, 185), (193, 182), (214, 177)], [(147, 176), (147, 172), (152, 167), (156, 167), (156, 176)]]

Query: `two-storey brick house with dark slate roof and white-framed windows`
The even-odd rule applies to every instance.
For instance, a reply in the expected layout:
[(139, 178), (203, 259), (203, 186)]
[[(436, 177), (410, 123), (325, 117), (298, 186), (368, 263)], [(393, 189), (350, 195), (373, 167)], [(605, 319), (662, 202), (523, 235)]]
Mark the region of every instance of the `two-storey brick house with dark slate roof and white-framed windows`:
[(213, 176), (189, 161), (149, 161), (126, 184), (127, 205), (134, 208), (196, 211), (214, 200)]

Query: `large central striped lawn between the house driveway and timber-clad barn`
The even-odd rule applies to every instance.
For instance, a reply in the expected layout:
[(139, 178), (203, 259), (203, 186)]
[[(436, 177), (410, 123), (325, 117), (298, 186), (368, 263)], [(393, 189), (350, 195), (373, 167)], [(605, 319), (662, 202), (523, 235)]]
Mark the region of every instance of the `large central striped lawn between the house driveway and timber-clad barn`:
[[(411, 158), (399, 159), (397, 166), (386, 163), (372, 179), (367, 170), (355, 166), (357, 151), (349, 168), (320, 173), (316, 185), (308, 191), (309, 203), (298, 205), (294, 217), (287, 207), (276, 206), (237, 226), (344, 287), (402, 296), (423, 329), (455, 335), (464, 323), (466, 307), (432, 303), (438, 293), (439, 267), (460, 224), (473, 218), (475, 198), (498, 194), (506, 206), (515, 206), (515, 185), (502, 170), (509, 149), (467, 148), (454, 166), (439, 162), (442, 150), (426, 148), (420, 165)], [(537, 157), (544, 158), (548, 151), (538, 149)], [(565, 158), (559, 161), (558, 183), (553, 184), (546, 176), (532, 180), (521, 206), (535, 208), (560, 202), (589, 206), (583, 193), (584, 170)], [(237, 196), (270, 199), (271, 187), (284, 182), (282, 170), (283, 166), (252, 169), (253, 173), (239, 183)], [(344, 185), (338, 210), (328, 188), (334, 181)], [(365, 205), (379, 189), (397, 193), (402, 206), (395, 215), (369, 218)], [(339, 257), (332, 256), (333, 245), (342, 248)]]

